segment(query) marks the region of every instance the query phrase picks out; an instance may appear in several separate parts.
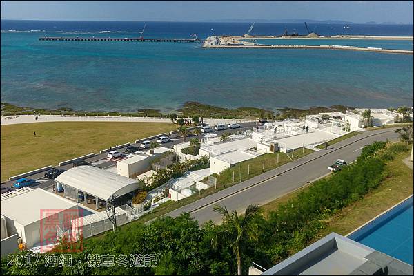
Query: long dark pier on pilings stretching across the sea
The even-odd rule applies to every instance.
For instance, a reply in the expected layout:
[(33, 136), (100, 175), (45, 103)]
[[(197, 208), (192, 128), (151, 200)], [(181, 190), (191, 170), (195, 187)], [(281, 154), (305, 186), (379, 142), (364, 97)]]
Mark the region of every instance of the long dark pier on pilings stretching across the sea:
[(39, 37), (39, 41), (121, 41), (121, 42), (179, 42), (202, 43), (202, 39), (144, 39), (144, 38), (115, 38), (115, 37)]

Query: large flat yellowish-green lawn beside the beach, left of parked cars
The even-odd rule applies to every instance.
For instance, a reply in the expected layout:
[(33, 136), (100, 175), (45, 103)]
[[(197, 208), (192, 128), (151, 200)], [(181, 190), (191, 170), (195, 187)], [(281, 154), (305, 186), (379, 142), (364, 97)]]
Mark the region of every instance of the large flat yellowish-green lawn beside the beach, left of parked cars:
[[(53, 122), (1, 126), (1, 181), (177, 129), (172, 123)], [(36, 131), (34, 137), (33, 131)]]

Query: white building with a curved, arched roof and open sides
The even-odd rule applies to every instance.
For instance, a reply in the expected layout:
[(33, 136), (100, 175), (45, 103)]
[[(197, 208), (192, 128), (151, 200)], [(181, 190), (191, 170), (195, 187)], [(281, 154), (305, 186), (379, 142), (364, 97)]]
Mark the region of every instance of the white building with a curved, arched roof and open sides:
[(65, 198), (85, 204), (95, 201), (95, 209), (99, 209), (100, 204), (106, 204), (110, 198), (119, 200), (122, 205), (123, 196), (139, 189), (139, 182), (97, 167), (79, 166), (55, 178), (55, 186), (63, 187)]

